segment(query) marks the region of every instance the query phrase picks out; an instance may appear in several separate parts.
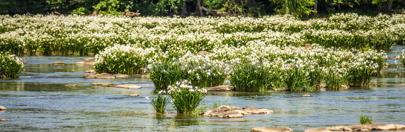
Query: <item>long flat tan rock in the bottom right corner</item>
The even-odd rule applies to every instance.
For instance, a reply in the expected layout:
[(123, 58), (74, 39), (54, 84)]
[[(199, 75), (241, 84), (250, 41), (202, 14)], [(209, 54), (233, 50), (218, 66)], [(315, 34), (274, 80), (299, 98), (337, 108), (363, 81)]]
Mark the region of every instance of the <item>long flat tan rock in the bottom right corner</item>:
[(351, 126), (335, 126), (327, 128), (331, 131), (369, 131), (369, 130), (405, 130), (405, 125), (396, 124), (356, 124)]

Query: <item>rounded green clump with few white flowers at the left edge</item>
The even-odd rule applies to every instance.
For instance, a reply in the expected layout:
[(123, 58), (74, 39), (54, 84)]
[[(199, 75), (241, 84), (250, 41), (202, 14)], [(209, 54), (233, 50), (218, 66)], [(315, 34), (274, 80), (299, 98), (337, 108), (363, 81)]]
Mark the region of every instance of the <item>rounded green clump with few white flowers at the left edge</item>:
[(0, 78), (17, 78), (23, 70), (21, 59), (7, 52), (0, 53)]

